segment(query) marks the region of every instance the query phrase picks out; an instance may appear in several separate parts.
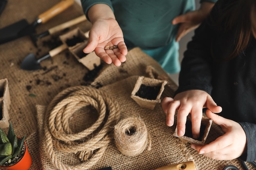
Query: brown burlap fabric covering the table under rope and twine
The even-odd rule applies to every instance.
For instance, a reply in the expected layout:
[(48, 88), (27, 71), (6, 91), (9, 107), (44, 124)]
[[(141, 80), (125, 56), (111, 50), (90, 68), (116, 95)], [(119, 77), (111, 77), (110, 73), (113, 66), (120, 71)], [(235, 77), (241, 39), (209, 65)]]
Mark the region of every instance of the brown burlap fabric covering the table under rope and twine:
[[(7, 7), (0, 15), (0, 27), (16, 22), (23, 17), (32, 22), (37, 15), (46, 11), (49, 7), (59, 2), (51, 1), (8, 1)], [(56, 24), (66, 22), (82, 15), (82, 9), (74, 4), (65, 12), (44, 25), (38, 26), (36, 31), (43, 32)], [(78, 25), (83, 31), (90, 28), (90, 23), (84, 22)], [(50, 40), (51, 37), (43, 40)], [(69, 87), (88, 85), (84, 79), (88, 70), (68, 52), (62, 52), (53, 59), (41, 62), (44, 69), (37, 71), (24, 71), (20, 69), (20, 63), (29, 53), (37, 53), (38, 57), (49, 51), (49, 46), (43, 45), (43, 40), (38, 42), (38, 48), (34, 47), (29, 37), (20, 38), (13, 42), (0, 45), (0, 78), (7, 78), (11, 96), (10, 119), (19, 136), (27, 135), (26, 142), (32, 157), (31, 170), (56, 169), (49, 157), (45, 154), (44, 147), (44, 114), (45, 109), (52, 99)], [(136, 157), (128, 157), (117, 150), (114, 140), (108, 145), (103, 156), (90, 169), (97, 170), (111, 166), (114, 170), (154, 170), (185, 161), (194, 161), (197, 170), (222, 170), (231, 164), (241, 167), (235, 159), (231, 161), (216, 161), (198, 155), (189, 144), (183, 144), (173, 136), (175, 126), (166, 126), (166, 119), (160, 104), (154, 110), (141, 108), (130, 98), (132, 89), (139, 76), (165, 79), (162, 98), (172, 96), (176, 85), (154, 60), (135, 48), (129, 51), (127, 61), (120, 67), (103, 64), (99, 75), (91, 83), (92, 87), (98, 87), (115, 99), (121, 109), (120, 119), (135, 116), (140, 117), (146, 124), (152, 140), (151, 150), (144, 150)], [(87, 128), (97, 119), (97, 113), (91, 110), (78, 110), (70, 119), (70, 128), (73, 131)], [(212, 126), (207, 142), (214, 140), (221, 134), (217, 126)], [(42, 143), (40, 143), (42, 141)], [(76, 165), (80, 162), (73, 154), (57, 152), (58, 158), (68, 165)], [(255, 169), (249, 165), (251, 170)]]

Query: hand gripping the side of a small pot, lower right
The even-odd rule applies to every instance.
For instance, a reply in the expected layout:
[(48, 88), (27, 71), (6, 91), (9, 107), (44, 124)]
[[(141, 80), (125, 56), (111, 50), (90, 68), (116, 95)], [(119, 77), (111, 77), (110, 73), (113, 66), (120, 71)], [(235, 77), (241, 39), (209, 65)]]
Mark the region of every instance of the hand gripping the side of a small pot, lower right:
[(211, 159), (231, 160), (240, 157), (247, 144), (242, 126), (235, 121), (220, 117), (210, 110), (207, 110), (206, 114), (214, 123), (221, 126), (225, 135), (205, 146), (191, 144), (191, 148)]

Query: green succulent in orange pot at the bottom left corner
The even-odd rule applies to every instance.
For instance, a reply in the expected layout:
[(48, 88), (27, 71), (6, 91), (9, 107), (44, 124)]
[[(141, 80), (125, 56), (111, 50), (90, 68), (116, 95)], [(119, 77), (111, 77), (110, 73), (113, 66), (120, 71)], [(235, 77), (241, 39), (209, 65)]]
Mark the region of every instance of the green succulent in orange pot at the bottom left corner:
[(7, 170), (28, 170), (32, 159), (24, 137), (17, 137), (11, 122), (8, 134), (0, 128), (0, 168)]

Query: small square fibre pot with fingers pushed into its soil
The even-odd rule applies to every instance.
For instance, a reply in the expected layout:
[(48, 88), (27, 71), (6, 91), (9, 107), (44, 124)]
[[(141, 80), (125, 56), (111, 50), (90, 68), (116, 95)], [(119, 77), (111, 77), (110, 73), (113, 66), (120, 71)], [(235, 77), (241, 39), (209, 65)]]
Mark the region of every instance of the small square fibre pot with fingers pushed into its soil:
[(201, 121), (201, 128), (200, 128), (200, 135), (198, 139), (193, 139), (192, 137), (192, 124), (191, 124), (191, 115), (187, 117), (186, 121), (186, 132), (184, 136), (178, 136), (177, 135), (177, 126), (174, 132), (174, 136), (180, 138), (184, 143), (190, 143), (190, 144), (198, 144), (198, 145), (204, 145), (207, 136), (209, 134), (209, 131), (211, 129), (212, 119), (209, 119), (208, 117), (203, 116)]

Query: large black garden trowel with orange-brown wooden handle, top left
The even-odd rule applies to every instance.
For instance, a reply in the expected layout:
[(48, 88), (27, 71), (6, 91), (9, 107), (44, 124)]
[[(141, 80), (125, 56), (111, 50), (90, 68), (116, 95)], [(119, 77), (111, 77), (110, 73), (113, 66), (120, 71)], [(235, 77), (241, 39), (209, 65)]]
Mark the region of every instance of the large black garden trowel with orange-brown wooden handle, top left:
[(9, 26), (6, 26), (0, 29), (0, 44), (16, 40), (26, 35), (31, 35), (34, 33), (35, 28), (39, 24), (44, 24), (54, 16), (65, 11), (74, 3), (74, 0), (61, 0), (58, 4), (54, 5), (49, 10), (45, 11), (38, 15), (36, 20), (29, 24), (27, 20), (22, 19), (18, 22), (15, 22)]

